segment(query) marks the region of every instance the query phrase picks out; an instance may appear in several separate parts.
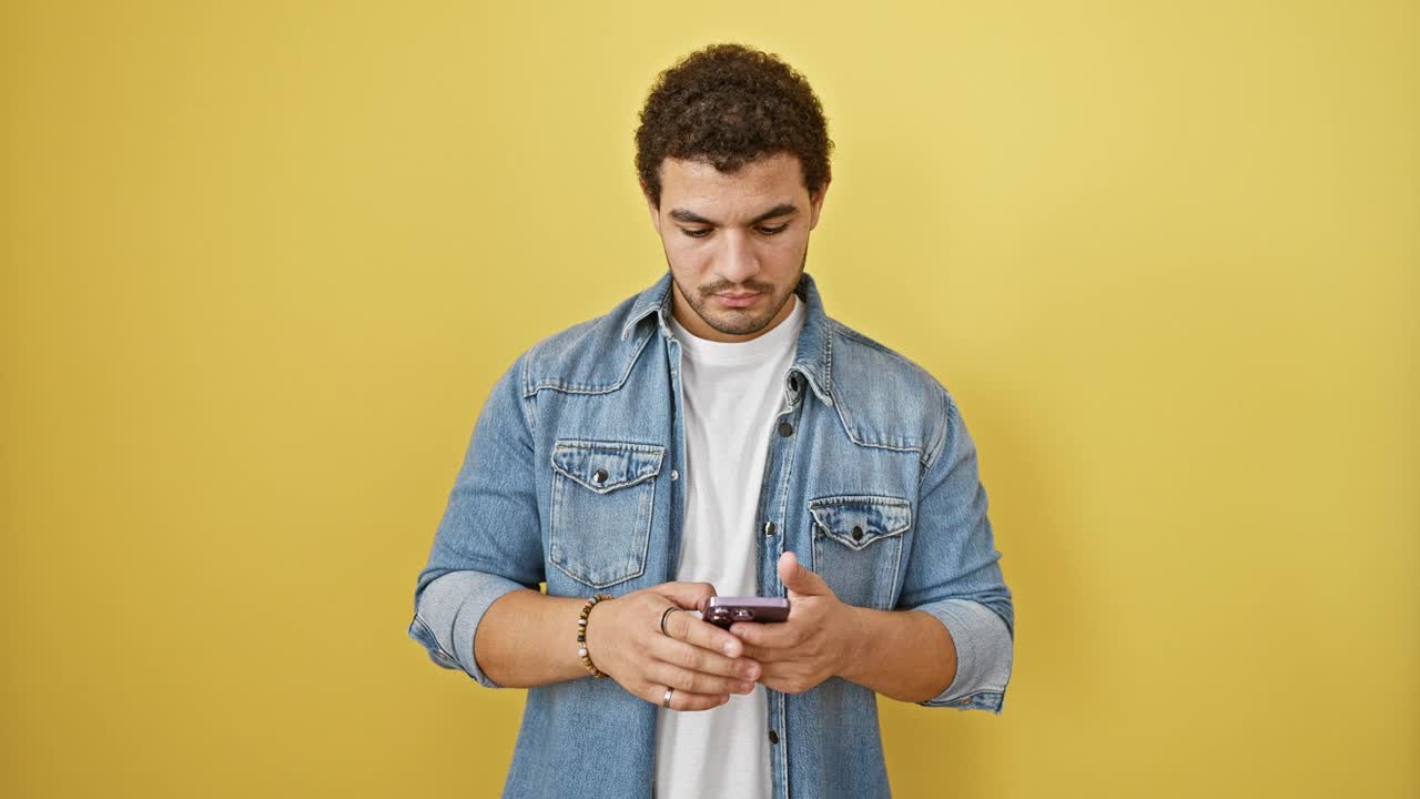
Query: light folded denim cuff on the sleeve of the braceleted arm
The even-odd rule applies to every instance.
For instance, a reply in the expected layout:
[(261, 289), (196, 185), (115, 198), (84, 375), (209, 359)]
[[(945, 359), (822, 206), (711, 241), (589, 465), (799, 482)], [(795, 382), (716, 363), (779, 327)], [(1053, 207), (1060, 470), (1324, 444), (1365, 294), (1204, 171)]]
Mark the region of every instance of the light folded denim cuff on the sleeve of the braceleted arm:
[(409, 637), (423, 644), (429, 660), (443, 668), (462, 668), (480, 685), (501, 688), (479, 668), (473, 657), (473, 636), (494, 601), (525, 587), (497, 574), (450, 572), (425, 586), (419, 594)]

